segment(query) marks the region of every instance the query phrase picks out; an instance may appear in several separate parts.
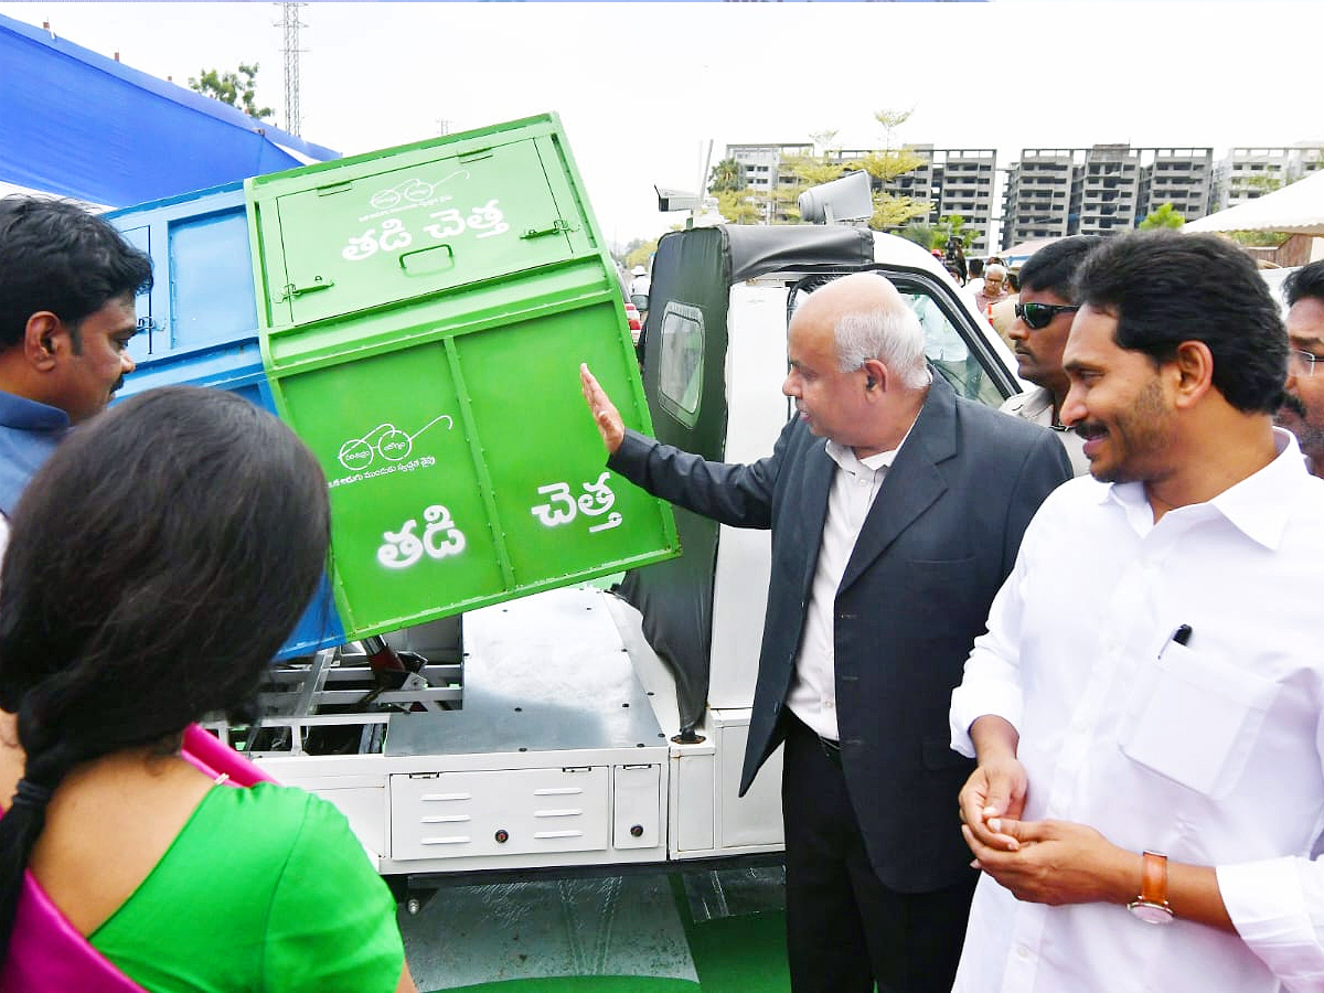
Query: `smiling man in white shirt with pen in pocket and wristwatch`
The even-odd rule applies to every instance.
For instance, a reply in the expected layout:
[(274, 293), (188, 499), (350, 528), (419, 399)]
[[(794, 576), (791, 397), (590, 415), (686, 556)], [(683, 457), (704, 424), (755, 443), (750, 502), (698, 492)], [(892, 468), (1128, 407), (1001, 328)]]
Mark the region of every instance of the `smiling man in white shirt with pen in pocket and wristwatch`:
[(1213, 236), (1110, 240), (1078, 290), (1092, 478), (952, 695), (984, 874), (955, 990), (1324, 989), (1324, 481), (1272, 425), (1278, 307)]

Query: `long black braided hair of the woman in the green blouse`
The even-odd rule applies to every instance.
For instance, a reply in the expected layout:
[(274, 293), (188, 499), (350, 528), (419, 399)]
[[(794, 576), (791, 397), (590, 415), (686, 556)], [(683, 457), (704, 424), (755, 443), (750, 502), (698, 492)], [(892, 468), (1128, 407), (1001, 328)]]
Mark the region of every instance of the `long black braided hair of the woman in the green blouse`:
[(75, 430), (29, 483), (0, 583), (0, 707), (24, 777), (0, 818), (7, 951), (69, 772), (250, 704), (326, 565), (326, 479), (271, 414), (168, 387)]

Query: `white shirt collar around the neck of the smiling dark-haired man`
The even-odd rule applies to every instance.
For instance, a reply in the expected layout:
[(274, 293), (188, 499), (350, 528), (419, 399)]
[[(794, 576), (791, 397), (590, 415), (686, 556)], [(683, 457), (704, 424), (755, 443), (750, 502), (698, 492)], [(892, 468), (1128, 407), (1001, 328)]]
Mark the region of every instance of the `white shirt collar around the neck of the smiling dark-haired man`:
[[(1249, 539), (1275, 551), (1292, 511), (1291, 502), (1282, 499), (1282, 495), (1308, 479), (1309, 473), (1305, 470), (1296, 437), (1291, 432), (1274, 428), (1274, 448), (1278, 451), (1276, 457), (1258, 473), (1229, 486), (1211, 500), (1190, 507), (1176, 507), (1165, 516), (1206, 512), (1196, 508), (1210, 507)], [(1144, 483), (1112, 483), (1102, 487), (1099, 500), (1100, 503), (1112, 500), (1121, 507), (1137, 535), (1147, 534), (1155, 526), (1153, 508), (1145, 498)]]

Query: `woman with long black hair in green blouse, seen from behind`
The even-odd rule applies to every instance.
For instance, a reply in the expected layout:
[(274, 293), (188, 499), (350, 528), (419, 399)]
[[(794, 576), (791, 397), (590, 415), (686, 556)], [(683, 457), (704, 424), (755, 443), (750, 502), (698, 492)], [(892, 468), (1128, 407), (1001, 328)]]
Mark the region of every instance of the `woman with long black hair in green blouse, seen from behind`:
[(181, 753), (253, 703), (322, 575), (307, 448), (234, 395), (151, 391), (70, 436), (12, 528), (0, 990), (413, 990), (344, 817)]

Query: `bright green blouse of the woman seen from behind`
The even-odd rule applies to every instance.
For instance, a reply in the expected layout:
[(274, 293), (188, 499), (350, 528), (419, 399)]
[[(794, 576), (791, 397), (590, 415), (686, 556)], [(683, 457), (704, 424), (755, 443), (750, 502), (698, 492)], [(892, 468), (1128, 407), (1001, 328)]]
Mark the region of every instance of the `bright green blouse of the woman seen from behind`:
[(213, 788), (90, 941), (151, 993), (393, 993), (404, 965), (344, 816), (267, 782)]

